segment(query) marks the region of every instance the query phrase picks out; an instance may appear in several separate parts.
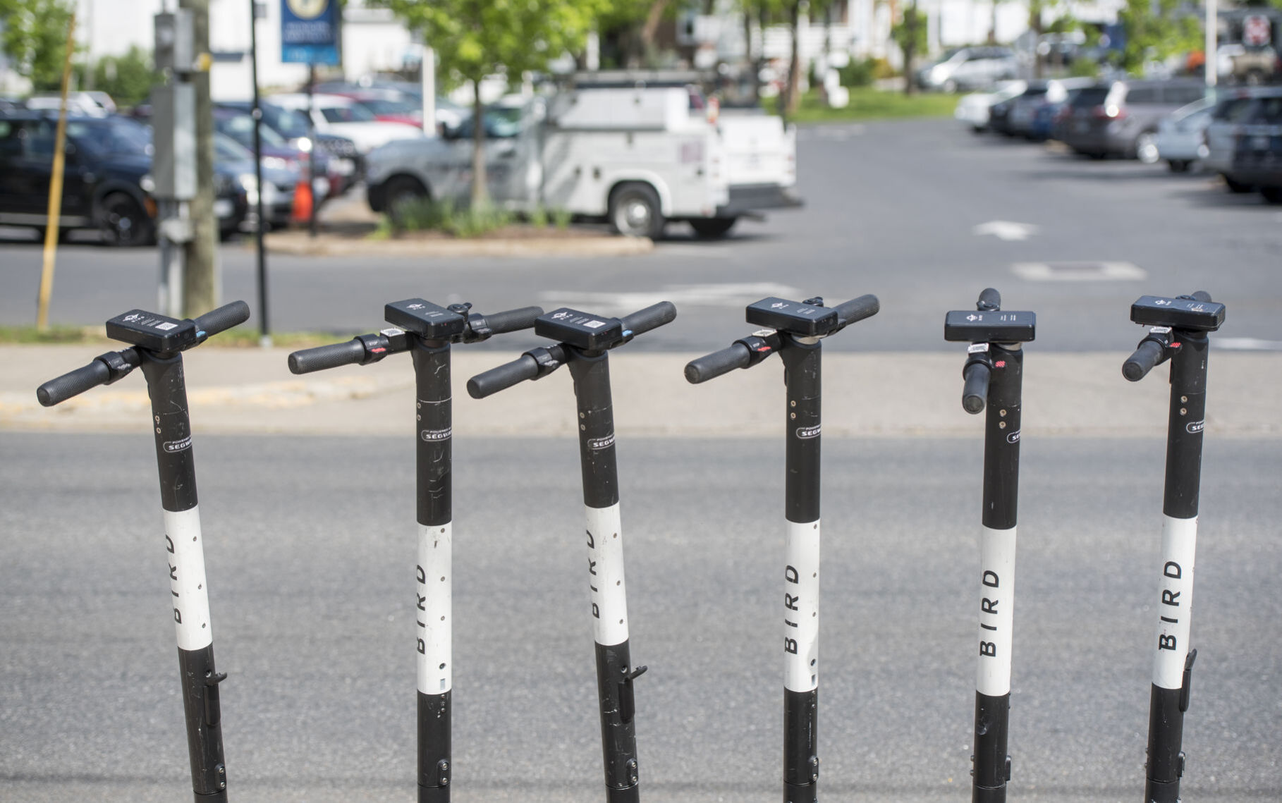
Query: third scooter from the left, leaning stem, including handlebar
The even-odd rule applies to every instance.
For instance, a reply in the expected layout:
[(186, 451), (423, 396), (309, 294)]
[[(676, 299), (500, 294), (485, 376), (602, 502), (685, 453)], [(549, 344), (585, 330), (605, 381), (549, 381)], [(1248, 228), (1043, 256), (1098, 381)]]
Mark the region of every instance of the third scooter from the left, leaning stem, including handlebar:
[(609, 803), (637, 803), (641, 799), (632, 683), (646, 671), (645, 666), (632, 669), (628, 645), (609, 353), (612, 348), (676, 316), (677, 307), (668, 301), (622, 319), (568, 307), (554, 310), (538, 316), (535, 334), (559, 341), (555, 346), (532, 348), (517, 360), (468, 380), (468, 393), (473, 398), (485, 398), (526, 379), (546, 377), (562, 365), (569, 365), (574, 378), (578, 453), (587, 515), (588, 588), (596, 642), (596, 690)]

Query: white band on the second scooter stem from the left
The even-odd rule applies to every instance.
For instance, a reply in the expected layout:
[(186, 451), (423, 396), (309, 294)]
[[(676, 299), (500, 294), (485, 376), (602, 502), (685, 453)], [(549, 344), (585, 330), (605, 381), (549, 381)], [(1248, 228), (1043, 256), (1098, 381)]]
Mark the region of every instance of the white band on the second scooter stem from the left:
[(450, 565), (454, 549), (453, 523), (418, 525), (418, 593), (414, 621), (418, 628), (418, 690), (445, 694), (454, 686), (454, 634)]

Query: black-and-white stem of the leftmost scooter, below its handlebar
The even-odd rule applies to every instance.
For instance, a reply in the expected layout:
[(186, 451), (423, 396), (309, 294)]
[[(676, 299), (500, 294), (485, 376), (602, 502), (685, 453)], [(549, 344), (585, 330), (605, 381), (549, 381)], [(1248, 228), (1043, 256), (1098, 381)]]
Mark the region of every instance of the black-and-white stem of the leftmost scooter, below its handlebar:
[(169, 590), (178, 637), (178, 667), (187, 720), (191, 785), (197, 802), (227, 800), (222, 711), (218, 684), (227, 676), (214, 669), (213, 631), (205, 553), (196, 507), (196, 466), (191, 452), (191, 421), (183, 384), (182, 355), (140, 350), (142, 375), (151, 396), (151, 421), (164, 508)]

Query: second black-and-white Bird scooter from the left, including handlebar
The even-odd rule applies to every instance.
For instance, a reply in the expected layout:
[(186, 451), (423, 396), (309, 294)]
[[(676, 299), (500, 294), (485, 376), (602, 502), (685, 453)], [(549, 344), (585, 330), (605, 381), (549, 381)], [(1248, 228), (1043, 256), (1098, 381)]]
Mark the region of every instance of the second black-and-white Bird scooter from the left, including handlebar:
[(453, 767), (453, 521), (450, 458), (453, 410), (450, 345), (479, 343), (494, 334), (528, 329), (542, 310), (532, 306), (492, 315), (470, 311), (470, 304), (441, 307), (422, 298), (383, 307), (392, 328), (362, 334), (345, 343), (305, 348), (290, 355), (295, 374), (370, 365), (409, 351), (414, 360), (418, 497), (418, 799), (449, 803)]

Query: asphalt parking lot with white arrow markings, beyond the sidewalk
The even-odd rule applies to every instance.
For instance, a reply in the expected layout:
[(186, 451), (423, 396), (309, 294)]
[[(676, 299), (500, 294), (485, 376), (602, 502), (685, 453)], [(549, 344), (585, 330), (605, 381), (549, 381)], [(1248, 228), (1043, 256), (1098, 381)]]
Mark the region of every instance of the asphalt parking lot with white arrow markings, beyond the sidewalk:
[[(804, 210), (745, 222), (723, 242), (699, 242), (673, 225), (672, 238), (646, 256), (272, 256), (272, 328), (372, 330), (382, 325), (383, 304), (413, 296), (468, 300), (481, 310), (533, 302), (603, 314), (670, 298), (681, 316), (638, 347), (694, 351), (746, 333), (742, 307), (765, 295), (841, 301), (876, 293), (882, 312), (832, 346), (932, 351), (942, 347), (944, 311), (968, 307), (991, 284), (1008, 309), (1038, 314), (1040, 348), (1123, 351), (1138, 339), (1131, 301), (1194, 289), (1228, 305), (1226, 337), (1282, 348), (1282, 207), (1231, 196), (1211, 177), (977, 137), (953, 120), (805, 128), (797, 161)], [(995, 222), (1008, 237), (1026, 238), (976, 233)], [(253, 251), (229, 245), (221, 255), (224, 297), (253, 304)], [(1074, 263), (1108, 266), (1103, 274), (1054, 268)], [(40, 264), (35, 243), (0, 245), (0, 324), (33, 320)], [(1018, 268), (1027, 264), (1053, 268)], [(1029, 278), (1038, 272), (1058, 280)], [(64, 247), (53, 320), (99, 324), (154, 306), (156, 274), (153, 250)]]

